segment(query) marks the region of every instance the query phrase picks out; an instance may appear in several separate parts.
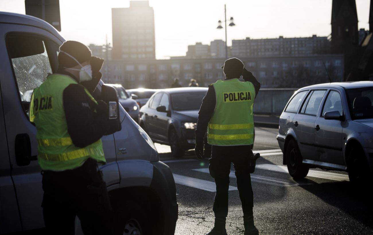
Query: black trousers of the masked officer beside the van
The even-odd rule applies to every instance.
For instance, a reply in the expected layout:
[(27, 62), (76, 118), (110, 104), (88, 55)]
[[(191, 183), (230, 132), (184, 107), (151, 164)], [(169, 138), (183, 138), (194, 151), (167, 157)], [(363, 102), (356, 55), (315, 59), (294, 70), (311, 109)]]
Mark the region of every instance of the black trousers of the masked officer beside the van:
[(79, 168), (43, 171), (43, 215), (48, 234), (75, 234), (75, 217), (85, 235), (112, 234), (111, 206), (97, 161)]

